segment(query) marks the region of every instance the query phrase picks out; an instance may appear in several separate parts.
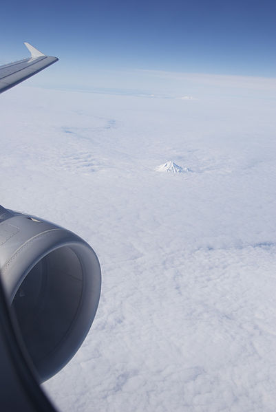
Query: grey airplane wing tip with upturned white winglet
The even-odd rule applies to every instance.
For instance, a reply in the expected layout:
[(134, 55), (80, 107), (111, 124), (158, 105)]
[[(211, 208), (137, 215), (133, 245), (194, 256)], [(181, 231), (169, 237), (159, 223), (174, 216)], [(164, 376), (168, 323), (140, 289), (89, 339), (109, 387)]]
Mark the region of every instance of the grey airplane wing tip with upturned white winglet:
[(18, 85), (27, 78), (58, 61), (57, 57), (45, 56), (29, 43), (24, 43), (30, 51), (30, 58), (0, 66), (0, 93)]

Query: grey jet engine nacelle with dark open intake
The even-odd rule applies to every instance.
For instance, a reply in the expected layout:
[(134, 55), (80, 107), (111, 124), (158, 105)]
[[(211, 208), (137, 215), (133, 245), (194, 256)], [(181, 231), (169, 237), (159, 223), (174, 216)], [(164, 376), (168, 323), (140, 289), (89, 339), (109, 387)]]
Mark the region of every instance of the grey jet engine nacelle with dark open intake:
[(0, 276), (41, 382), (74, 356), (100, 299), (100, 264), (77, 235), (0, 206)]

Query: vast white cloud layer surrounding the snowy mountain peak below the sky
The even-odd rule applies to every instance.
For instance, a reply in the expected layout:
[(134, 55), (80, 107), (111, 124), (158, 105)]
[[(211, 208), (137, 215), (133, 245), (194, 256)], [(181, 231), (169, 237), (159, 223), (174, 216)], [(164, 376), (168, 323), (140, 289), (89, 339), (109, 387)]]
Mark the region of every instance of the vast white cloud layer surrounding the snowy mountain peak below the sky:
[[(271, 103), (17, 87), (0, 110), (3, 206), (102, 265), (92, 330), (44, 385), (61, 410), (274, 410)], [(155, 173), (168, 158), (196, 173)]]

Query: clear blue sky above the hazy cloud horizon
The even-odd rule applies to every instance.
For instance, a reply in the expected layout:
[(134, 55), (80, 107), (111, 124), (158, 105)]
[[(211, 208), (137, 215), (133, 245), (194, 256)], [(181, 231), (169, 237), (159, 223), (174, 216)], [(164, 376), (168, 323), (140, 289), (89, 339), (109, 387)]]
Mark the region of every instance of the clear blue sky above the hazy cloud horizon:
[(1, 6), (1, 63), (28, 56), (28, 41), (59, 56), (63, 74), (154, 69), (274, 77), (275, 17), (275, 0), (15, 0)]

